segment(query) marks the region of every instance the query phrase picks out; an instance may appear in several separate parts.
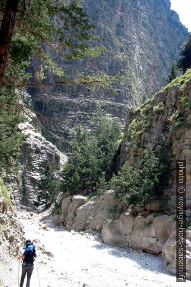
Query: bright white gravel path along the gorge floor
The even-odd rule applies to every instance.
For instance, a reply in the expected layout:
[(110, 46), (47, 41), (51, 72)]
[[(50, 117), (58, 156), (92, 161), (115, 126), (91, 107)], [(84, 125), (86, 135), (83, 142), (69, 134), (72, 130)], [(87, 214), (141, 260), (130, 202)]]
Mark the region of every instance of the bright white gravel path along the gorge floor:
[[(26, 239), (36, 245), (41, 287), (182, 286), (164, 269), (160, 256), (109, 246), (96, 241), (93, 235), (55, 227), (50, 216), (24, 212), (18, 217)], [(8, 265), (11, 270), (4, 266), (4, 282), (7, 287), (17, 287), (18, 261), (13, 260), (11, 266), (7, 262)], [(31, 287), (39, 286), (38, 272), (35, 266)], [(191, 282), (186, 286), (191, 286)]]

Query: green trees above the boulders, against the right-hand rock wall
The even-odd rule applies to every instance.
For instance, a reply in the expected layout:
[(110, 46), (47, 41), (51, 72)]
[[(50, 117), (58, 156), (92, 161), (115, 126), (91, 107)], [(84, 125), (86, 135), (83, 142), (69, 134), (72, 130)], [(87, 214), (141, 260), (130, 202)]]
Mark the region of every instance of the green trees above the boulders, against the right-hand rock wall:
[(167, 153), (161, 147), (158, 158), (150, 146), (143, 151), (139, 171), (126, 162), (117, 175), (110, 181), (110, 187), (115, 189), (115, 196), (126, 205), (136, 203), (146, 204), (156, 195), (161, 195), (162, 190), (168, 185), (170, 176), (167, 163)]

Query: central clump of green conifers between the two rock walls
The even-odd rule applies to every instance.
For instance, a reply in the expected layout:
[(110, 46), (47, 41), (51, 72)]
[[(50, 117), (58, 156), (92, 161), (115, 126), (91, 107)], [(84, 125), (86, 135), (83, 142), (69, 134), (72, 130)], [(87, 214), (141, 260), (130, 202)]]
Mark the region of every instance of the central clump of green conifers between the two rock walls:
[(98, 109), (90, 122), (91, 133), (78, 127), (62, 172), (62, 190), (71, 195), (90, 193), (96, 188), (97, 192), (102, 192), (106, 186), (104, 177), (120, 143), (121, 127), (116, 119)]

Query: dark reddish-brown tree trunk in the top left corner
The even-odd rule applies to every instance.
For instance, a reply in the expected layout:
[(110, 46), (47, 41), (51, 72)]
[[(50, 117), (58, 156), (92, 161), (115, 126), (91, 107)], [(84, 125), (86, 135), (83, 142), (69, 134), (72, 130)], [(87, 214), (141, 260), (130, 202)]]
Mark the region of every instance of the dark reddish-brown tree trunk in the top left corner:
[(5, 74), (7, 57), (10, 49), (19, 0), (7, 0), (0, 26), (0, 90)]

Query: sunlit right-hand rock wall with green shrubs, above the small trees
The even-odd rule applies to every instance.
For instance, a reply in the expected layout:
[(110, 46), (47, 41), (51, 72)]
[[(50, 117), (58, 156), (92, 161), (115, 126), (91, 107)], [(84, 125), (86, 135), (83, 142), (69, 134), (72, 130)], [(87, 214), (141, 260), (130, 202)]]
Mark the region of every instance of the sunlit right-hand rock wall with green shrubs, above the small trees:
[(183, 98), (191, 102), (190, 81), (184, 88), (174, 84), (167, 91), (157, 93), (132, 112), (124, 130), (119, 157), (119, 166), (127, 160), (138, 169), (143, 150), (150, 144), (157, 154), (163, 136), (164, 153), (168, 148), (171, 156), (171, 187), (164, 190), (165, 194), (171, 196), (171, 209), (176, 202), (176, 160), (187, 161), (187, 208), (191, 208), (191, 108), (181, 101)]

